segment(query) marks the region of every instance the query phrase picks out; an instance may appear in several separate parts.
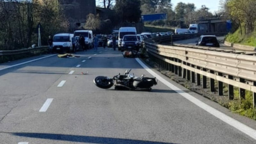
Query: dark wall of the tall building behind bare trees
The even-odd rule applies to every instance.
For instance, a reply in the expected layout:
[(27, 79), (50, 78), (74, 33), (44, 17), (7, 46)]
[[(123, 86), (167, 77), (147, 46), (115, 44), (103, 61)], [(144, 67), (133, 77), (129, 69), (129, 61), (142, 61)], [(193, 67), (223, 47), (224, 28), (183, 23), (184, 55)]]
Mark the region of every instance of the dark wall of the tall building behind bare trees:
[(84, 23), (89, 13), (96, 14), (95, 0), (59, 0), (59, 2), (72, 30), (79, 27), (77, 24)]

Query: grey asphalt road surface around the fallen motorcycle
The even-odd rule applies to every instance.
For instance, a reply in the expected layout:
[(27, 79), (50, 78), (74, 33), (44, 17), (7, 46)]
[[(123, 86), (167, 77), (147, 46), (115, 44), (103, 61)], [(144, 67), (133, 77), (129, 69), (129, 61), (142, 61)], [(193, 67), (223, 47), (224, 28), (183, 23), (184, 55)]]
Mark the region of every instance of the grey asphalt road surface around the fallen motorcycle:
[[(256, 143), (256, 133), (249, 136), (255, 121), (144, 69), (139, 59), (124, 58), (110, 48), (76, 55), (81, 57), (45, 55), (0, 65), (1, 144)], [(166, 82), (158, 81), (151, 92), (104, 90), (92, 82), (128, 68), (137, 76), (151, 77), (153, 71)], [(192, 103), (188, 95), (200, 102)], [(242, 132), (237, 123), (227, 124), (225, 116), (198, 105), (211, 106), (252, 131)]]

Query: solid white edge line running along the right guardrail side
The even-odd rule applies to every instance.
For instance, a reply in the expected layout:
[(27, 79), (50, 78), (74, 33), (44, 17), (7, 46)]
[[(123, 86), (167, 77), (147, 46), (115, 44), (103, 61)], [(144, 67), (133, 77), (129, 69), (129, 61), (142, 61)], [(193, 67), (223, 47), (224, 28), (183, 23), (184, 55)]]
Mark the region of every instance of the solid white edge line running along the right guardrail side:
[(253, 138), (254, 140), (256, 140), (256, 130), (252, 129), (251, 127), (235, 120), (234, 118), (225, 115), (224, 113), (218, 111), (215, 108), (212, 108), (211, 106), (205, 104), (204, 102), (196, 99), (195, 97), (191, 96), (190, 94), (180, 90), (178, 87), (176, 87), (175, 85), (171, 84), (170, 82), (166, 81), (164, 78), (162, 78), (161, 76), (159, 76), (158, 74), (156, 74), (153, 70), (151, 70), (150, 68), (148, 68), (139, 58), (136, 58), (136, 61), (144, 68), (146, 69), (152, 76), (155, 76), (159, 81), (161, 81), (163, 84), (165, 84), (166, 86), (168, 86), (170, 89), (174, 90), (175, 92), (179, 93), (181, 96), (183, 96), (184, 98), (188, 99), (189, 101), (191, 101), (192, 103), (194, 103), (195, 105), (197, 105), (198, 107), (204, 109), (205, 111), (207, 111), (208, 113), (212, 114), (213, 116), (216, 116), (217, 118), (219, 118), (220, 120), (222, 120), (223, 122), (235, 127), (236, 129), (238, 129), (241, 132), (244, 132), (245, 134), (247, 134), (248, 136), (250, 136), (251, 138)]

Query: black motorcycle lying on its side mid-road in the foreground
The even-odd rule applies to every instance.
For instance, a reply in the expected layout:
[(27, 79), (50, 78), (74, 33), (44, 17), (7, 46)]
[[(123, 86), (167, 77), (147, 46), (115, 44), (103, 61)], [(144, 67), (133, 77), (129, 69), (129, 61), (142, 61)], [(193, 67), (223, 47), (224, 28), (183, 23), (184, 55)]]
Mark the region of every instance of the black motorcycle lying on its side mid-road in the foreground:
[(142, 75), (140, 77), (135, 77), (134, 74), (130, 75), (132, 69), (126, 70), (123, 75), (120, 73), (113, 78), (107, 76), (97, 76), (93, 79), (93, 83), (102, 88), (109, 89), (113, 85), (115, 90), (144, 90), (151, 91), (152, 86), (157, 84), (156, 78), (145, 77)]

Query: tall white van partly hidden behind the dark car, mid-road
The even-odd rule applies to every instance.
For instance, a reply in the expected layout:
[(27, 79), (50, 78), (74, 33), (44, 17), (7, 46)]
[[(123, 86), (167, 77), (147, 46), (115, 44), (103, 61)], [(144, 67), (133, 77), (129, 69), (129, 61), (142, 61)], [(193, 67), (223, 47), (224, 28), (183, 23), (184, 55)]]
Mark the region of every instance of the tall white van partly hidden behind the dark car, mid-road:
[(118, 50), (121, 50), (121, 40), (124, 35), (137, 35), (137, 30), (135, 27), (121, 27), (118, 33)]

